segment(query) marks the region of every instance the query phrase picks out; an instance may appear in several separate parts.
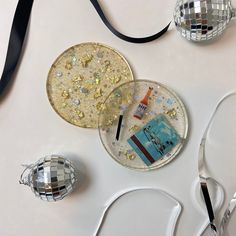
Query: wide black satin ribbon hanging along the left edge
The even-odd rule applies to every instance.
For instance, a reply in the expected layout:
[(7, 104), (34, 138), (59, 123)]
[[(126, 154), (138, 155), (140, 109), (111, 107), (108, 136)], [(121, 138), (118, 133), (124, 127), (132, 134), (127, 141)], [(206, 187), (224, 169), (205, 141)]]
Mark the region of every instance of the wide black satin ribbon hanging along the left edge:
[(0, 79), (0, 97), (13, 77), (20, 59), (34, 0), (19, 0), (10, 33), (7, 56)]

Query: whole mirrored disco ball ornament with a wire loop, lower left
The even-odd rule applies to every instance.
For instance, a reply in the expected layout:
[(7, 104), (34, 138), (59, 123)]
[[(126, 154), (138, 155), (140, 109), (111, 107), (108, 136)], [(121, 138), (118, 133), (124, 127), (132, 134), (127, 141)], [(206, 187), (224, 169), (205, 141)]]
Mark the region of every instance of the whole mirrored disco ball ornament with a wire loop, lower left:
[(74, 190), (78, 182), (77, 176), (78, 171), (71, 161), (51, 155), (26, 166), (20, 184), (31, 187), (32, 192), (40, 199), (53, 202), (62, 200)]

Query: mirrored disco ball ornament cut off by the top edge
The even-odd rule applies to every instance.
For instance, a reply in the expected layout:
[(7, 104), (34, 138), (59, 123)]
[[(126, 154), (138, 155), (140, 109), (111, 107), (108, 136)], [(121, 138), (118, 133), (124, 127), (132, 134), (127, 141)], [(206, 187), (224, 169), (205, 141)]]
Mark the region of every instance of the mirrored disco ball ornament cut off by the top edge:
[(195, 42), (221, 35), (232, 17), (235, 10), (230, 0), (177, 0), (174, 11), (177, 30)]

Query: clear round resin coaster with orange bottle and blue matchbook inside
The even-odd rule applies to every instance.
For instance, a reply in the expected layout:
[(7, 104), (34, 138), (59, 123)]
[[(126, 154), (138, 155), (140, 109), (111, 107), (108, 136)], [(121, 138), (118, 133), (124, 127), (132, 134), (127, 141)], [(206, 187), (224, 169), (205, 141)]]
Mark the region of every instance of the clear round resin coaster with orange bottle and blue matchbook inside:
[(178, 96), (164, 85), (130, 81), (105, 100), (99, 133), (107, 152), (121, 165), (156, 169), (182, 149), (188, 133), (187, 112)]

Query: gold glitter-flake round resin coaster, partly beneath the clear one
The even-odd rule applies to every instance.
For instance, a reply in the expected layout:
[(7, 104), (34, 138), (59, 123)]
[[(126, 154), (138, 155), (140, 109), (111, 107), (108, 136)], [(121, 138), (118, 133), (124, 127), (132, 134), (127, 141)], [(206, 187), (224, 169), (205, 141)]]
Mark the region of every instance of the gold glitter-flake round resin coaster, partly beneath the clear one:
[(63, 52), (53, 63), (47, 93), (54, 110), (67, 122), (97, 128), (104, 98), (133, 80), (125, 58), (99, 43), (82, 43)]

